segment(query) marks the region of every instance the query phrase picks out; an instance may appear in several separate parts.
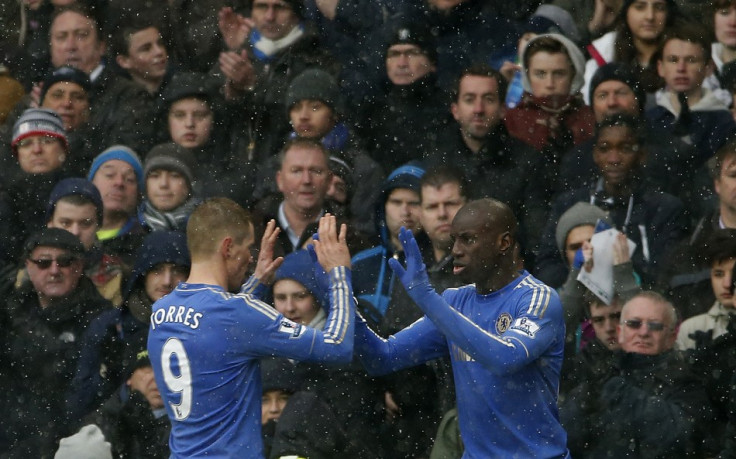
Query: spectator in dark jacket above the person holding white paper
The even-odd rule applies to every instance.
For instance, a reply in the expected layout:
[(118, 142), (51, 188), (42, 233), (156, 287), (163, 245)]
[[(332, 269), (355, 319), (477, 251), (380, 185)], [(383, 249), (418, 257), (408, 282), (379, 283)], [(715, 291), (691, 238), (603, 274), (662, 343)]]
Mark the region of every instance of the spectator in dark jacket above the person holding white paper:
[(555, 244), (555, 229), (560, 216), (582, 201), (605, 210), (614, 226), (634, 241), (634, 271), (641, 276), (642, 285), (654, 283), (668, 248), (683, 237), (687, 222), (679, 199), (652, 190), (641, 179), (642, 138), (637, 119), (628, 115), (614, 115), (598, 125), (593, 160), (599, 178), (593, 187), (568, 191), (555, 199), (537, 258), (540, 279), (555, 287), (565, 281), (568, 268)]

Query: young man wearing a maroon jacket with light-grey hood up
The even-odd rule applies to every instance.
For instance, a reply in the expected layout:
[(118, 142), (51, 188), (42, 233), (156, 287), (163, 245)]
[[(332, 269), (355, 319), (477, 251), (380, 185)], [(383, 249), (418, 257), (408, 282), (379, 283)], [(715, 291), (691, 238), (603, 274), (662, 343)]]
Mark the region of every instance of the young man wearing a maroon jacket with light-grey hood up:
[(559, 168), (563, 153), (593, 135), (593, 113), (580, 96), (583, 55), (563, 35), (538, 35), (522, 52), (524, 95), (504, 120), (509, 133)]

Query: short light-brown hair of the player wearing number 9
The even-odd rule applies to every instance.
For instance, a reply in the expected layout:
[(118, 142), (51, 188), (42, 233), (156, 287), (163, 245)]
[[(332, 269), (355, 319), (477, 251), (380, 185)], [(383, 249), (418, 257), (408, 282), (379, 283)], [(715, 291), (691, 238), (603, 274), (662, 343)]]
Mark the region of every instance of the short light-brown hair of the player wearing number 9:
[(187, 246), (192, 261), (209, 258), (219, 241), (232, 237), (240, 244), (253, 235), (250, 213), (228, 198), (204, 201), (192, 212), (187, 222)]

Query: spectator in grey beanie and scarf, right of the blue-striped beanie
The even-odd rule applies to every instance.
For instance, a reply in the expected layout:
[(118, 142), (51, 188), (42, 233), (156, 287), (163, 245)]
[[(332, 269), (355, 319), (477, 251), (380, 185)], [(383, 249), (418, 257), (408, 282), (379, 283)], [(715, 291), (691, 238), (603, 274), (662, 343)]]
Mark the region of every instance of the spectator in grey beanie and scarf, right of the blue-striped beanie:
[(189, 214), (201, 200), (194, 193), (197, 164), (192, 152), (173, 142), (153, 147), (146, 156), (146, 192), (138, 209), (142, 225), (152, 231), (186, 230)]

